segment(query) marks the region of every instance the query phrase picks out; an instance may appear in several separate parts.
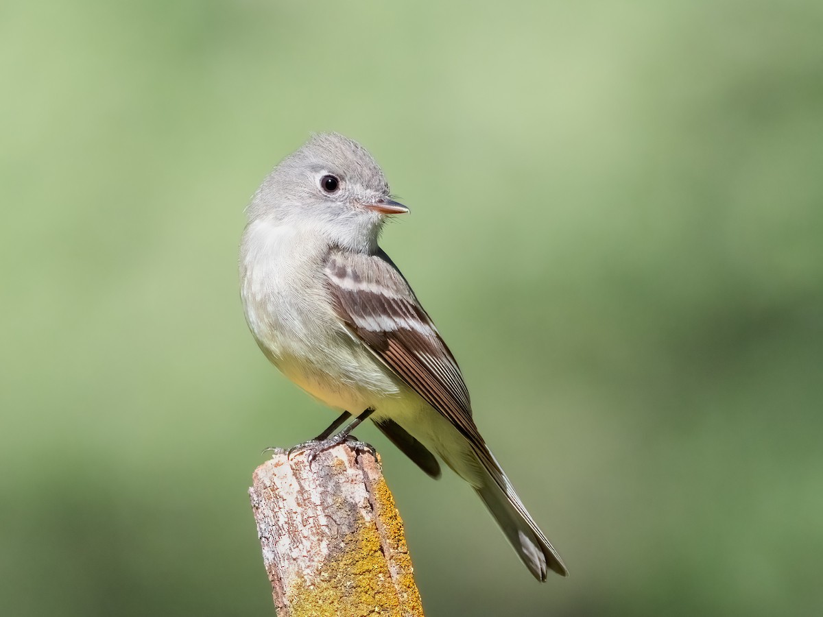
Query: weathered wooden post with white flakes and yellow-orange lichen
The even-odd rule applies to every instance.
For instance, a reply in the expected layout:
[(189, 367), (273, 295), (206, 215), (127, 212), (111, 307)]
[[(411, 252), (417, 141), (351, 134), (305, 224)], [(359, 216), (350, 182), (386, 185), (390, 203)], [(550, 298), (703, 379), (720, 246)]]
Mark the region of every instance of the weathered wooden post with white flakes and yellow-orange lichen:
[(371, 452), (343, 443), (309, 468), (277, 450), (249, 489), (278, 617), (422, 617), (402, 520)]

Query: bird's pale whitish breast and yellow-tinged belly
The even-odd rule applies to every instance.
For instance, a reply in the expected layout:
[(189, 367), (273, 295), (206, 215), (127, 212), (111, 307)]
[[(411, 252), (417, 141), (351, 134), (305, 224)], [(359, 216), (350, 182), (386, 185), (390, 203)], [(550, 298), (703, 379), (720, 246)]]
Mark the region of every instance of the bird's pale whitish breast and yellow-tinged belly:
[(333, 313), (321, 276), (325, 253), (286, 225), (255, 222), (241, 246), (240, 293), (267, 358), (320, 401), (356, 413), (398, 396), (399, 387)]

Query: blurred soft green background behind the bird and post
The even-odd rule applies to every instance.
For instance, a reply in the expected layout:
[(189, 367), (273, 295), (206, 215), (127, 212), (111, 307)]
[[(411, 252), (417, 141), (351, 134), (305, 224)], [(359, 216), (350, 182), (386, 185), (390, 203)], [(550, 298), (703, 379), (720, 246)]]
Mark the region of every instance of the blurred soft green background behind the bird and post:
[(271, 615), (246, 495), (332, 413), (247, 332), (336, 130), (571, 577), (368, 427), (427, 615), (820, 615), (823, 3), (4, 2), (0, 613)]

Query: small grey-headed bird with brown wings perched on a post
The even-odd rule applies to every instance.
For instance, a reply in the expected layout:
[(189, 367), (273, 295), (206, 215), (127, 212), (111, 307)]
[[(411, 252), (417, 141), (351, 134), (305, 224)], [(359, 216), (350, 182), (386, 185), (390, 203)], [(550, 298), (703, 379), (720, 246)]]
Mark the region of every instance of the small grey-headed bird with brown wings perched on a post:
[[(342, 415), (318, 438), (342, 443), (371, 418), (429, 476), (434, 452), (477, 491), (532, 574), (563, 576), (472, 420), (463, 375), (405, 277), (378, 246), (391, 199), (368, 151), (312, 137), (263, 181), (240, 244), (240, 294), (258, 346), (286, 377)], [(354, 420), (333, 434), (346, 420)]]

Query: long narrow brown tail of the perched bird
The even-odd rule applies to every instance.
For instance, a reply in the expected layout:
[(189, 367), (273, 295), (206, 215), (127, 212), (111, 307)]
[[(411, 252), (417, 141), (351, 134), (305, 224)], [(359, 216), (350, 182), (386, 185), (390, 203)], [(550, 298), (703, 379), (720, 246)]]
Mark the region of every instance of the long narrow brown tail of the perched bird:
[(483, 482), (474, 489), (514, 546), (523, 564), (526, 564), (538, 581), (546, 580), (546, 568), (551, 568), (560, 576), (567, 576), (569, 571), (563, 559), (560, 559), (551, 542), (526, 511), (494, 455), (487, 448), (486, 452), (479, 454), (477, 458), (483, 467)]

